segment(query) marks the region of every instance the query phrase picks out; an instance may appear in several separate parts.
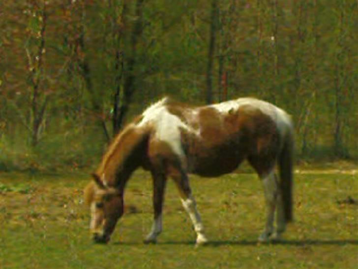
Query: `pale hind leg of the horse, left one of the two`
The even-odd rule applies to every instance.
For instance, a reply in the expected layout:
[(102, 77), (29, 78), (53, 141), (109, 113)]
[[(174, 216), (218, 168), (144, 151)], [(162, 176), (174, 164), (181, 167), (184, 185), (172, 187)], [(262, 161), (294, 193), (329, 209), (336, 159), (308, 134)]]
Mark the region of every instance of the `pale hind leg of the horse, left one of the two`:
[(273, 232), (273, 220), (275, 216), (275, 206), (277, 202), (277, 180), (274, 171), (262, 177), (267, 206), (266, 226), (264, 232), (259, 236), (259, 241), (268, 241)]

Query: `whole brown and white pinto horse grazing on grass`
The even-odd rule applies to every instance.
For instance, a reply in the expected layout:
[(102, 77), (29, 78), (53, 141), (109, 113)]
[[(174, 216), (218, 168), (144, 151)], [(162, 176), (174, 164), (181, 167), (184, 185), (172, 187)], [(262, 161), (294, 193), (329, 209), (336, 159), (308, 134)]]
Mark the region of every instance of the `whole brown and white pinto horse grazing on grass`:
[(163, 196), (171, 177), (194, 225), (196, 243), (206, 243), (188, 174), (219, 176), (234, 171), (244, 160), (256, 170), (265, 191), (267, 221), (259, 240), (278, 238), (293, 215), (292, 153), (290, 116), (273, 104), (240, 98), (190, 107), (164, 98), (117, 135), (92, 174), (85, 200), (90, 205), (93, 239), (109, 241), (123, 214), (125, 185), (132, 172), (142, 167), (153, 178), (154, 207), (154, 222), (144, 242), (156, 242), (162, 232)]

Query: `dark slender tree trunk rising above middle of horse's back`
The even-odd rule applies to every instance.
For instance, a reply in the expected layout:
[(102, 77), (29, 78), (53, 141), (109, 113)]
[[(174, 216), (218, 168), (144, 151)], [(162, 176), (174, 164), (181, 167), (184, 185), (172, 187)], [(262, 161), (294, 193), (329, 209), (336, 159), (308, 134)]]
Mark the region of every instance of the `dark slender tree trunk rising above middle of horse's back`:
[(210, 19), (210, 36), (209, 36), (209, 51), (208, 51), (208, 67), (207, 67), (207, 103), (212, 103), (212, 69), (215, 51), (215, 37), (217, 25), (217, 0), (211, 0), (211, 19)]

